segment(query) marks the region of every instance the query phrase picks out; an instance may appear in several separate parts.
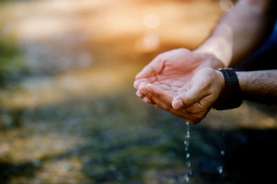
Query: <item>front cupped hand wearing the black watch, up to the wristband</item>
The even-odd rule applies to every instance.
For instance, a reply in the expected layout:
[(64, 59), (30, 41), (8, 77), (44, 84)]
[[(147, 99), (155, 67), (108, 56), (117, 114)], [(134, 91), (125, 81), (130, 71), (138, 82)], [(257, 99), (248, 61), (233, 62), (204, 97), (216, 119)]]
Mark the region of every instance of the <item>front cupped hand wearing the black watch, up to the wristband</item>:
[[(178, 82), (172, 80), (172, 82)], [(165, 109), (175, 116), (180, 116), (192, 124), (200, 122), (210, 111), (213, 103), (224, 89), (225, 80), (220, 71), (202, 68), (179, 89), (163, 84), (146, 84), (139, 86), (155, 107)]]

